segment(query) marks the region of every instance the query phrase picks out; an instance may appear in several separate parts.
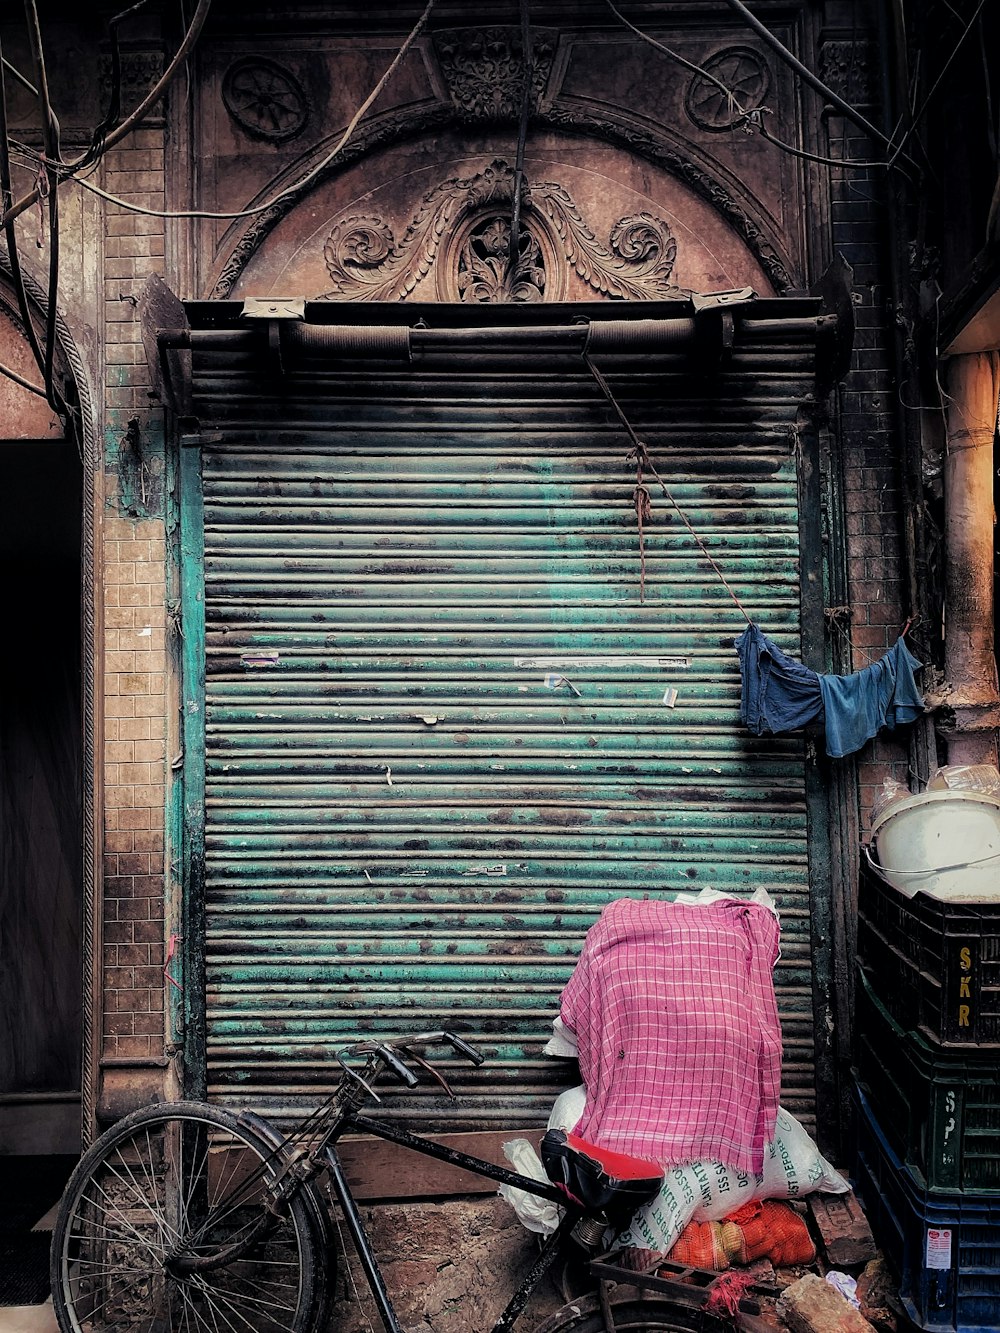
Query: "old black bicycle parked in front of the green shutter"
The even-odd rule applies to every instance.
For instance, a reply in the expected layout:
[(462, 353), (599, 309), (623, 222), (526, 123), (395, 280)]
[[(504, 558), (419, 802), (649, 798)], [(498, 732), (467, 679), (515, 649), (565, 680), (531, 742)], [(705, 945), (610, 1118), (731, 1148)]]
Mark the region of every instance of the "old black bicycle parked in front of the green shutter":
[[(649, 1162), (549, 1130), (543, 1160), (551, 1181), (540, 1182), (361, 1114), (363, 1102), (380, 1100), (375, 1084), (387, 1073), (413, 1088), (416, 1069), (451, 1094), (421, 1053), (435, 1044), (483, 1062), (447, 1032), (351, 1046), (337, 1054), (343, 1073), (329, 1100), (287, 1136), (252, 1112), (195, 1101), (144, 1106), (113, 1125), (80, 1160), (59, 1209), (52, 1298), (61, 1333), (321, 1333), (336, 1273), (335, 1205), (387, 1333), (404, 1333), (337, 1154), (337, 1140), (352, 1132), (563, 1208), (491, 1333), (512, 1329), (552, 1261), (596, 1256), (607, 1228), (624, 1225), (663, 1176)], [(675, 1272), (664, 1278), (595, 1257), (595, 1292), (536, 1333), (732, 1328), (703, 1308), (715, 1274), (668, 1266)]]

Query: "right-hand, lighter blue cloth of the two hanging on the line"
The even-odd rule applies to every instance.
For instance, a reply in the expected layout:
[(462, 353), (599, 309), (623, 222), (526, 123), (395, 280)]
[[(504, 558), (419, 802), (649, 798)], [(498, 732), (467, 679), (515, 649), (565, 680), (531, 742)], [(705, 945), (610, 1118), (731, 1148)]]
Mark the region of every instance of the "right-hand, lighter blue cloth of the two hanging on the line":
[(884, 726), (920, 717), (924, 700), (913, 672), (919, 663), (901, 639), (877, 663), (849, 676), (820, 676), (827, 714), (827, 753), (853, 754)]

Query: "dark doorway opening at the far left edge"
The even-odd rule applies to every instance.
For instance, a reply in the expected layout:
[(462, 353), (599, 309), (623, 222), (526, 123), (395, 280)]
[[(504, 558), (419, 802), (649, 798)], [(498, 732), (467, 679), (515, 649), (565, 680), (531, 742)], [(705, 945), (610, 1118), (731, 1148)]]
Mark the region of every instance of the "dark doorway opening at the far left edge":
[[(0, 1170), (79, 1152), (81, 464), (0, 441)], [(5, 1190), (4, 1190), (5, 1192)]]

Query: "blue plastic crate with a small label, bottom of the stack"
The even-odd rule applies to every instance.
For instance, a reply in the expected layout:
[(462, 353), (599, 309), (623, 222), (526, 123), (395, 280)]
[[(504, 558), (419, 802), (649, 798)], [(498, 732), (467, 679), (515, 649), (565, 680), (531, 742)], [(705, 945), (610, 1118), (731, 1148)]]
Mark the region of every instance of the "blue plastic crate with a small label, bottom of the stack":
[(855, 1128), (855, 1190), (907, 1314), (928, 1333), (997, 1333), (1000, 1200), (923, 1192), (861, 1092)]

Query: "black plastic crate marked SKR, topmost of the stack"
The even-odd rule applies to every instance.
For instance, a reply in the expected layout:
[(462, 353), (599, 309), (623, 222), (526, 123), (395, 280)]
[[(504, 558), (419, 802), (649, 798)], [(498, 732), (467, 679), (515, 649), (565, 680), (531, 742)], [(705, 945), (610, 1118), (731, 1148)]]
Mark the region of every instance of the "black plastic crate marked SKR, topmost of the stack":
[(993, 1045), (1000, 1053), (1000, 902), (908, 898), (865, 866), (857, 957), (904, 1028), (948, 1046)]

